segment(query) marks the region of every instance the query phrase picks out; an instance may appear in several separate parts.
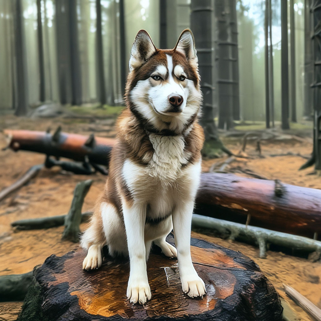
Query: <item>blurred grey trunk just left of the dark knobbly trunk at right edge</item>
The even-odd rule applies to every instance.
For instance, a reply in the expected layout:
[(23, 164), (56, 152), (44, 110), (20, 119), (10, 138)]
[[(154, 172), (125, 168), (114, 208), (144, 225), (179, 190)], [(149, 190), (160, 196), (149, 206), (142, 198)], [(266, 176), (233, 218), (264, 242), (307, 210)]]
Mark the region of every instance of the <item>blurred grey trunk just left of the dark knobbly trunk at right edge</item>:
[(304, 1), (304, 116), (313, 116), (313, 54), (311, 44), (311, 13), (312, 0)]

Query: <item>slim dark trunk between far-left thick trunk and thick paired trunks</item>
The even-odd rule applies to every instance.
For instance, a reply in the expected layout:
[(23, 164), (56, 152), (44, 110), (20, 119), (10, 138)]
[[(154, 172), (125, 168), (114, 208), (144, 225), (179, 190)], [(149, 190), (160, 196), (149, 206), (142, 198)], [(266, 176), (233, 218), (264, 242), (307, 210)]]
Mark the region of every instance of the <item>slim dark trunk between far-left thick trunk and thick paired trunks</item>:
[(39, 56), (39, 101), (45, 101), (45, 69), (43, 56), (43, 38), (41, 21), (41, 0), (37, 0), (37, 36)]

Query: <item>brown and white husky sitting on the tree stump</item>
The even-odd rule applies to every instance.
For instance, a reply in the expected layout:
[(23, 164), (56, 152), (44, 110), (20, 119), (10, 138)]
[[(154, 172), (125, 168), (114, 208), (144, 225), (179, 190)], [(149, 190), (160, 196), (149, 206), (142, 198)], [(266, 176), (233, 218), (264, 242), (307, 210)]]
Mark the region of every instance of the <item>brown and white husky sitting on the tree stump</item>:
[[(129, 60), (127, 108), (117, 120), (109, 174), (89, 228), (83, 269), (101, 266), (101, 249), (129, 254), (127, 297), (151, 299), (146, 261), (152, 244), (178, 258), (182, 288), (203, 296), (190, 253), (191, 220), (204, 142), (198, 124), (202, 93), (194, 37), (186, 29), (174, 49), (157, 49), (140, 30)], [(166, 242), (174, 229), (176, 248)], [(176, 250), (177, 249), (177, 250)]]

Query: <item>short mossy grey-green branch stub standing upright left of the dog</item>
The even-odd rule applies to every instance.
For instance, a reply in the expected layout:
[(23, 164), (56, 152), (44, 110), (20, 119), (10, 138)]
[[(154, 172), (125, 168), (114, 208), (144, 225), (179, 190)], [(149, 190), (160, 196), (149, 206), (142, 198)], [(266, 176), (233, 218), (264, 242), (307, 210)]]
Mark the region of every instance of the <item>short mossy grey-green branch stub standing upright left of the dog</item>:
[(62, 239), (68, 239), (74, 243), (79, 241), (79, 225), (82, 220), (82, 204), (91, 184), (92, 179), (88, 179), (76, 185), (70, 210), (65, 217), (65, 230), (63, 232)]

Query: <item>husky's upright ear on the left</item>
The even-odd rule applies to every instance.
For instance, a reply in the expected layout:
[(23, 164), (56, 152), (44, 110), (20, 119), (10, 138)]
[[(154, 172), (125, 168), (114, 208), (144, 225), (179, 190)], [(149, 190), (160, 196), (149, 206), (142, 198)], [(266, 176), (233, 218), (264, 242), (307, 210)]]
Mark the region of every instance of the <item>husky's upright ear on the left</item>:
[(129, 59), (129, 71), (140, 67), (156, 51), (146, 30), (139, 30), (133, 43)]

